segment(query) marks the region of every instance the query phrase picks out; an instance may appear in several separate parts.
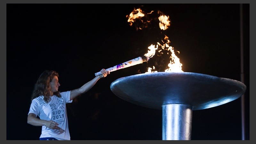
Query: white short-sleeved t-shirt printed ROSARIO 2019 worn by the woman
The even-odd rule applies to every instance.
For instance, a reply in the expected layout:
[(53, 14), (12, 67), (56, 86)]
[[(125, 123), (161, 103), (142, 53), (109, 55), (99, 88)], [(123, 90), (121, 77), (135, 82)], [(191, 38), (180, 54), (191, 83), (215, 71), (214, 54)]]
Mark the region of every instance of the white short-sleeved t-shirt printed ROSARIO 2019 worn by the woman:
[(66, 104), (73, 100), (70, 100), (70, 91), (61, 92), (60, 95), (61, 98), (53, 95), (48, 103), (44, 101), (44, 96), (39, 96), (32, 100), (28, 114), (34, 113), (40, 119), (59, 123), (59, 128), (55, 130), (43, 125), (40, 138), (53, 137), (58, 140), (70, 140)]

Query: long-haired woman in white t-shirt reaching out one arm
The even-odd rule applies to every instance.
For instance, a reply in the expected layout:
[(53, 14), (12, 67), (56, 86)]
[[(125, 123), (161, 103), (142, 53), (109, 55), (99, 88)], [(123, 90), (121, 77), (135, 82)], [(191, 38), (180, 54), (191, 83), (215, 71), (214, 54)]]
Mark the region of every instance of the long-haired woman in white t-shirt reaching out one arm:
[[(40, 140), (70, 140), (66, 104), (90, 90), (96, 82), (109, 74), (104, 68), (82, 87), (59, 92), (59, 74), (45, 70), (38, 78), (31, 97), (28, 124), (42, 126)], [(37, 117), (39, 116), (39, 118)]]

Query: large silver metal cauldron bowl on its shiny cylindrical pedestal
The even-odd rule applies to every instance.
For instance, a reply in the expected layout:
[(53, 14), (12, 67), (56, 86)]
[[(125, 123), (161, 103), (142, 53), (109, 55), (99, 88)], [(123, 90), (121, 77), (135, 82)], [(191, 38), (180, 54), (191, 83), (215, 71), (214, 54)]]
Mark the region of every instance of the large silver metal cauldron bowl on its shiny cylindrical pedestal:
[(162, 140), (191, 140), (193, 110), (236, 100), (246, 86), (206, 74), (154, 72), (118, 78), (110, 89), (123, 100), (162, 110)]

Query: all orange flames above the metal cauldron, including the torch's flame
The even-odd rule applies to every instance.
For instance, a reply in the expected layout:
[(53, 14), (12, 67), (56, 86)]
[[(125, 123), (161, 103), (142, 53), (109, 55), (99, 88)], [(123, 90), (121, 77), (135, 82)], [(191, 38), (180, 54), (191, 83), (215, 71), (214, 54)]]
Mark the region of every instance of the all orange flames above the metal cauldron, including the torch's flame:
[[(129, 16), (127, 15), (126, 17), (128, 18), (128, 22), (130, 23), (130, 26), (132, 26), (132, 23), (135, 22), (136, 20), (140, 20), (140, 22), (142, 23), (142, 26), (137, 28), (138, 30), (138, 29), (143, 29), (148, 27), (148, 23), (151, 22), (153, 19), (143, 20), (142, 18), (150, 15), (152, 12), (154, 11), (151, 11), (150, 13), (146, 13), (146, 12), (143, 12), (140, 8), (139, 9), (134, 8), (134, 10), (130, 13), (130, 15)], [(169, 20), (169, 16), (164, 15), (160, 11), (158, 11), (158, 14), (160, 14), (160, 16), (158, 17), (159, 28), (161, 30), (166, 30), (171, 23), (171, 21)], [(155, 55), (156, 50), (158, 50), (160, 54), (167, 51), (167, 54), (170, 55), (171, 60), (170, 60), (170, 63), (168, 64), (169, 68), (165, 69), (165, 72), (183, 72), (181, 68), (182, 64), (180, 63), (180, 59), (175, 55), (173, 47), (169, 46), (170, 40), (168, 36), (164, 37), (164, 40), (162, 40), (162, 43), (163, 44), (160, 44), (158, 42), (156, 47), (155, 45), (151, 44), (151, 46), (148, 47), (150, 51), (148, 51), (148, 53), (146, 53), (145, 56), (148, 58), (153, 57)], [(169, 51), (171, 53), (169, 53)], [(179, 51), (176, 51), (176, 52), (180, 53)], [(155, 66), (153, 66), (153, 68), (148, 68), (148, 72), (146, 73), (151, 73), (151, 72), (157, 72), (157, 70), (155, 69)]]

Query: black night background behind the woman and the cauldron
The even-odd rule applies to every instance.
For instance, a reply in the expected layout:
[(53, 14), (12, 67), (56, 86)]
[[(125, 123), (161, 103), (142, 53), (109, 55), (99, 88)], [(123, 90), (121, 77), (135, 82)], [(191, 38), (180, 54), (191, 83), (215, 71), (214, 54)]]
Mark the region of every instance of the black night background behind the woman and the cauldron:
[[(159, 40), (159, 30), (136, 30), (134, 8), (160, 10), (165, 34), (184, 72), (241, 81), (239, 4), (6, 4), (6, 140), (39, 140), (27, 124), (39, 75), (57, 71), (60, 91), (81, 87), (102, 68), (137, 58)], [(243, 4), (245, 140), (250, 140), (249, 4)], [(150, 60), (149, 60), (150, 61)], [(169, 61), (167, 61), (169, 63)], [(162, 111), (117, 97), (110, 84), (147, 71), (144, 62), (111, 72), (68, 104), (71, 140), (162, 140)], [(241, 98), (193, 111), (191, 140), (242, 140)]]

